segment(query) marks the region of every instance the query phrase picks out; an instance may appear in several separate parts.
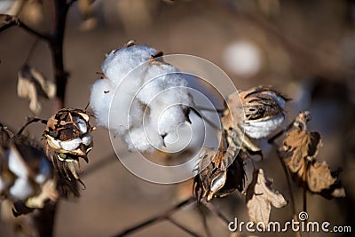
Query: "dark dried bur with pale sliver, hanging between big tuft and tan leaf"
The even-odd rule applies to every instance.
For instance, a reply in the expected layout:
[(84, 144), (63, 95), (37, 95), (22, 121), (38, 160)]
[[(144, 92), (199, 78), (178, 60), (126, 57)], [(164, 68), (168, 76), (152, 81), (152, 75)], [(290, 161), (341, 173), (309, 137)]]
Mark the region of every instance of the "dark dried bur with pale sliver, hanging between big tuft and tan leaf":
[[(204, 169), (203, 169), (204, 168)], [(204, 148), (199, 165), (201, 172), (194, 179), (194, 193), (198, 200), (224, 197), (236, 189), (244, 189), (245, 170), (240, 156), (233, 157), (229, 150)]]

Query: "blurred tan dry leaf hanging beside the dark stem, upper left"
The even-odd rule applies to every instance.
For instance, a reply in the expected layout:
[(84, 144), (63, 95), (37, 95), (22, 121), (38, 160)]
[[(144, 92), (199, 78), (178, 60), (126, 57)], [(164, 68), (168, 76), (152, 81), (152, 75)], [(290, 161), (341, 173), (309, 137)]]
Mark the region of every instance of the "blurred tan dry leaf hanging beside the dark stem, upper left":
[(29, 99), (30, 110), (38, 114), (41, 111), (40, 99), (52, 99), (56, 86), (48, 81), (36, 68), (23, 66), (18, 73), (17, 94), (20, 98)]

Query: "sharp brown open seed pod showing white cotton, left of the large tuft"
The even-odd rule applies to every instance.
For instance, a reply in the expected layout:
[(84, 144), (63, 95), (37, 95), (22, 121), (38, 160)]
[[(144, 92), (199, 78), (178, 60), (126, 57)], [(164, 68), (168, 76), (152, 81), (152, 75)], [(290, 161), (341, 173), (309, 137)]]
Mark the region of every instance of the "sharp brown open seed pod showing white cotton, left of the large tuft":
[(89, 115), (81, 109), (64, 108), (52, 115), (43, 132), (46, 152), (54, 166), (66, 178), (79, 179), (75, 164), (79, 159), (89, 162), (87, 154), (93, 146)]

